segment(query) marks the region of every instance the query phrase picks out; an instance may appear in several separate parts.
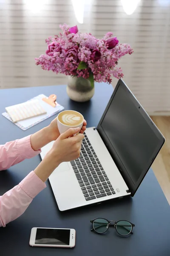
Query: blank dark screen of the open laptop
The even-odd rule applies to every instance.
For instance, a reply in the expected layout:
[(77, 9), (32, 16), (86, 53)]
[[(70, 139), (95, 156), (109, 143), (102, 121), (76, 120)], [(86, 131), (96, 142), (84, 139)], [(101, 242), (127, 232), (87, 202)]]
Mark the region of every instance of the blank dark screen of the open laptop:
[(119, 86), (101, 126), (135, 184), (146, 169), (158, 138), (130, 97), (126, 88)]

